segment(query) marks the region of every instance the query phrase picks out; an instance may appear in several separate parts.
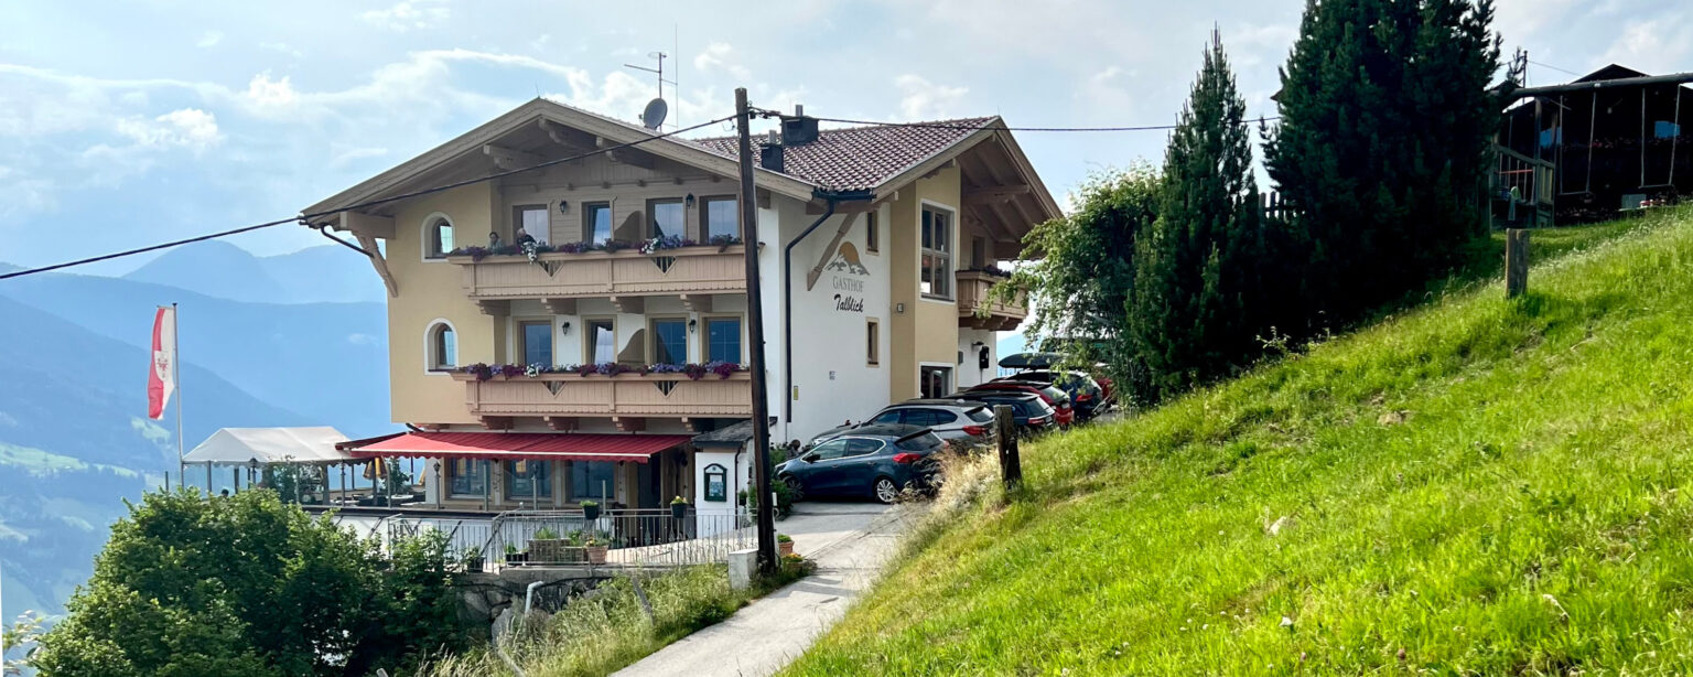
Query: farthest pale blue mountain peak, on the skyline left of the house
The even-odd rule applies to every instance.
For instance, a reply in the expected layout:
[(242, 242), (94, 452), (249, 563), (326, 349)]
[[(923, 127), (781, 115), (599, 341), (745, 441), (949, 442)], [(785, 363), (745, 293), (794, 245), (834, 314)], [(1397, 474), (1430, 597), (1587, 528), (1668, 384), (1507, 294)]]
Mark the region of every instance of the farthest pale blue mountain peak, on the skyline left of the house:
[(124, 279), (249, 303), (381, 303), (384, 294), (371, 264), (339, 244), (259, 257), (222, 240), (195, 242)]

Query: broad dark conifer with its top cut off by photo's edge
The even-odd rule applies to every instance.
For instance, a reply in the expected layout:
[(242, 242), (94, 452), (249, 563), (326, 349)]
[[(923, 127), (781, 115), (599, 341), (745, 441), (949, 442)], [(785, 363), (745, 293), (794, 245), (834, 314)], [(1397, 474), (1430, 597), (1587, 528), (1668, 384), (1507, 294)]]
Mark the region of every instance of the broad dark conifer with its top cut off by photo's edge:
[(1315, 323), (1420, 289), (1485, 234), (1492, 0), (1307, 0), (1265, 164)]

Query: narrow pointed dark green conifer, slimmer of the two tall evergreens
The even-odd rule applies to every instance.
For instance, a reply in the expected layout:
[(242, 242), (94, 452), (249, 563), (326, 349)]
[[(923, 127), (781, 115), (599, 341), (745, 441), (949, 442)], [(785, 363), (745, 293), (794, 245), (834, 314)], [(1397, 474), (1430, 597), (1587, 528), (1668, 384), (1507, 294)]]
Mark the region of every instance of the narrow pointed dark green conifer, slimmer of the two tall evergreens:
[(1165, 152), (1158, 222), (1136, 247), (1129, 325), (1155, 394), (1249, 362), (1261, 318), (1246, 102), (1212, 32)]

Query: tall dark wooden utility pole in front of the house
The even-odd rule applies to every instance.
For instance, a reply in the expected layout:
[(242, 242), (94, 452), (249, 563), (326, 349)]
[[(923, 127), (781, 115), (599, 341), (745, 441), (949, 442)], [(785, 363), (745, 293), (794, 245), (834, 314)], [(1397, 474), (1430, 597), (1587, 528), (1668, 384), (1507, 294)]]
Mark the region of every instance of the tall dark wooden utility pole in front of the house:
[(736, 156), (742, 171), (742, 245), (747, 249), (747, 342), (752, 357), (752, 459), (758, 491), (758, 569), (775, 572), (775, 496), (770, 493), (770, 388), (764, 367), (764, 296), (758, 288), (758, 196), (752, 184), (752, 113), (735, 88)]

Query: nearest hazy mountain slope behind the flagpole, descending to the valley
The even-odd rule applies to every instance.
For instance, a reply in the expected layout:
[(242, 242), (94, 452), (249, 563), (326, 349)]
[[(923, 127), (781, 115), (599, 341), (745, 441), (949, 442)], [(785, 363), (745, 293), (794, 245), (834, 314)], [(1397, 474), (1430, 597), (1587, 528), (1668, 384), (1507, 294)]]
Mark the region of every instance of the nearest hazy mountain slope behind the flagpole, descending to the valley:
[[(42, 276), (47, 278), (47, 276)], [(12, 281), (15, 283), (15, 281)], [(132, 284), (132, 283), (130, 283)], [(8, 283), (0, 289), (15, 293)], [(149, 354), (0, 296), (0, 618), (58, 613), (88, 577), (124, 499), (176, 471), (174, 410), (147, 420)], [(195, 362), (183, 366), (186, 445), (222, 427), (313, 423), (267, 405)], [(186, 388), (193, 384), (193, 388)], [(203, 481), (190, 476), (195, 484)]]

